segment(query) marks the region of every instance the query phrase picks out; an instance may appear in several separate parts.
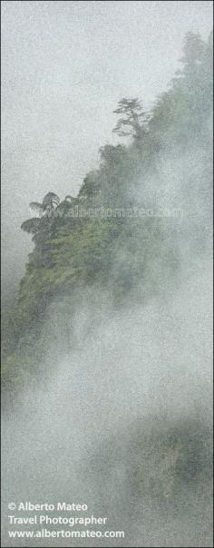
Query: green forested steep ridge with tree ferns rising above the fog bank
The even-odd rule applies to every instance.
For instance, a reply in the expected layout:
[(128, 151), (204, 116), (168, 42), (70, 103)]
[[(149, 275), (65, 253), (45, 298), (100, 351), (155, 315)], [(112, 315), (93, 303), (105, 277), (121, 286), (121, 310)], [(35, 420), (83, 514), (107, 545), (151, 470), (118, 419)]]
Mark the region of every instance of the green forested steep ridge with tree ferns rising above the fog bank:
[[(69, 303), (71, 314), (73, 298), (88, 287), (106, 289), (115, 307), (138, 290), (143, 303), (161, 291), (165, 279), (178, 276), (177, 221), (169, 230), (160, 217), (128, 211), (150, 207), (148, 184), (151, 181), (153, 197), (160, 190), (162, 159), (177, 161), (187, 150), (199, 150), (202, 175), (192, 181), (191, 172), (185, 173), (186, 195), (191, 195), (194, 185), (193, 192), (207, 200), (212, 158), (211, 44), (211, 36), (206, 44), (198, 34), (187, 34), (182, 68), (150, 115), (137, 98), (120, 101), (113, 131), (129, 142), (101, 148), (100, 166), (85, 177), (76, 198), (60, 201), (50, 191), (42, 204), (30, 204), (39, 216), (22, 225), (33, 235), (34, 251), (17, 302), (4, 318), (4, 387), (22, 386), (38, 367), (45, 352), (44, 322), (55, 299)], [(94, 212), (101, 208), (105, 214)], [(125, 209), (126, 214), (112, 208)], [(203, 233), (199, 237), (203, 247)]]

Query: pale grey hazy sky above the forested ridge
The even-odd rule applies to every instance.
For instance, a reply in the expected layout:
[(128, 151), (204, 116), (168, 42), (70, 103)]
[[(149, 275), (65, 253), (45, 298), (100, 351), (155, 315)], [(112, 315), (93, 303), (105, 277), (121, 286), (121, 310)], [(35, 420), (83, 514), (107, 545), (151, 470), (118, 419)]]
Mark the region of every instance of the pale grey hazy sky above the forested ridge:
[[(149, 108), (179, 66), (184, 34), (212, 2), (2, 2), (2, 225), (8, 284), (23, 273), (29, 201), (78, 191), (115, 142), (123, 96)], [(13, 245), (12, 245), (13, 242)]]

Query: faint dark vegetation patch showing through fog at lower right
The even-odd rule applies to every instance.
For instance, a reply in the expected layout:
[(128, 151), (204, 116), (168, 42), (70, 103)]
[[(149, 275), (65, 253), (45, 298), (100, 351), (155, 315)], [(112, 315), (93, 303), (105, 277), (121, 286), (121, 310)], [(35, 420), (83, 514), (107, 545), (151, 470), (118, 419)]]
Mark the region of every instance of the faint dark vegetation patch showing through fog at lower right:
[[(123, 445), (118, 444), (118, 438)], [(126, 450), (124, 451), (124, 446)], [(104, 499), (103, 476), (112, 489), (117, 485), (120, 503), (129, 493), (129, 500), (143, 505), (148, 497), (152, 508), (163, 515), (188, 512), (192, 499), (200, 494), (203, 503), (209, 500), (212, 478), (212, 431), (199, 420), (199, 416), (175, 420), (169, 424), (167, 417), (152, 423), (139, 419), (126, 430), (94, 451), (92, 474)], [(120, 491), (120, 487), (122, 490)], [(191, 493), (191, 496), (190, 496)], [(115, 494), (116, 496), (116, 494)], [(197, 499), (196, 499), (197, 500)]]

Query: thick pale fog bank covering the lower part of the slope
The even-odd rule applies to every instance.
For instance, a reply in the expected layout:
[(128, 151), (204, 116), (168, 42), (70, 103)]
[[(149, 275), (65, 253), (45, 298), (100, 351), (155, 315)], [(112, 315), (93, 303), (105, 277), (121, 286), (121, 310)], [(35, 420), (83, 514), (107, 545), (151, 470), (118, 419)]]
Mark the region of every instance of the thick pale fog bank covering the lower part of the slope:
[[(107, 516), (109, 530), (125, 532), (125, 540), (100, 539), (103, 546), (212, 545), (209, 269), (204, 262), (173, 296), (166, 292), (143, 308), (129, 302), (120, 313), (108, 295), (83, 294), (73, 351), (63, 350), (63, 314), (53, 306), (54, 342), (46, 364), (38, 364), (43, 381), (22, 393), (21, 410), (16, 404), (5, 416), (3, 508), (8, 497), (16, 504), (87, 504), (87, 516)], [(167, 467), (169, 447), (162, 447), (170, 435), (186, 452), (176, 471)], [(162, 453), (166, 494), (151, 483)], [(143, 475), (148, 484), (141, 484)], [(177, 494), (170, 493), (174, 481)], [(35, 545), (8, 543), (7, 533), (4, 541)], [(36, 545), (97, 543), (43, 542)]]

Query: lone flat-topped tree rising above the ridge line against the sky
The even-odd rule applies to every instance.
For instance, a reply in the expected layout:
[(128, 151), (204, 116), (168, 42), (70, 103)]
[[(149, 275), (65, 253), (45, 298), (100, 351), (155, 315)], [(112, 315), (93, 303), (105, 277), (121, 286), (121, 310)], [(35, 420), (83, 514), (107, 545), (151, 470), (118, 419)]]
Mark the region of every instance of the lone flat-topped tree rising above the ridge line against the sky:
[(113, 113), (122, 114), (113, 129), (113, 133), (117, 133), (122, 137), (131, 135), (135, 141), (143, 139), (147, 132), (148, 116), (144, 112), (139, 99), (122, 99)]

